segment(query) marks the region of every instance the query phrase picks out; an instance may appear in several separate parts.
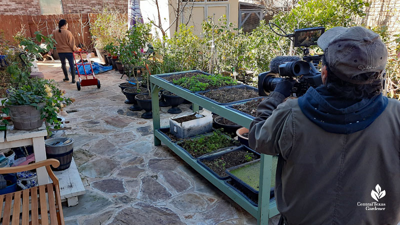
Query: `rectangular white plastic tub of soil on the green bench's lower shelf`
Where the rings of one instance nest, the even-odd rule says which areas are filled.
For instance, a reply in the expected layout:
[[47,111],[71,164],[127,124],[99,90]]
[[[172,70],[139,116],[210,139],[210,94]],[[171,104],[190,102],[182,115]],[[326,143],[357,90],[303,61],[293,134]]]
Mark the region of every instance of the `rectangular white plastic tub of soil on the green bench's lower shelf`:
[[201,113],[197,111],[188,115],[193,114],[197,117],[196,119],[184,121],[181,123],[178,123],[173,119],[187,115],[169,118],[169,132],[177,138],[184,139],[212,131],[212,115],[210,111],[203,109]]

